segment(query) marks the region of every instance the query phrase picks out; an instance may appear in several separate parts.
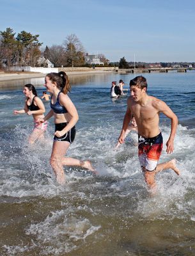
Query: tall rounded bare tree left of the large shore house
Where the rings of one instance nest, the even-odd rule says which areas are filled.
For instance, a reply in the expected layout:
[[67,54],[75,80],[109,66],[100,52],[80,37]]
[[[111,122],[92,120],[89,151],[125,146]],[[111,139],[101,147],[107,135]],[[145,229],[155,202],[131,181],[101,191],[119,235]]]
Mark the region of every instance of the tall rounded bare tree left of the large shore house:
[[67,62],[69,65],[74,67],[75,63],[77,63],[77,65],[83,63],[84,47],[75,34],[66,36],[66,40],[63,42],[63,45],[65,45]]

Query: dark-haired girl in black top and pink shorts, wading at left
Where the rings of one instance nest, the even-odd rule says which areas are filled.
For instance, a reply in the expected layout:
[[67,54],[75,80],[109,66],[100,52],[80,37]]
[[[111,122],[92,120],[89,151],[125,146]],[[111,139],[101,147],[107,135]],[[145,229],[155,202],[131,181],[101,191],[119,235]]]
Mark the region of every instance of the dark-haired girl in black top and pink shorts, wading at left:
[[47,129],[47,122],[43,122],[43,124],[38,124],[38,118],[44,118],[43,113],[45,113],[45,106],[42,100],[37,96],[35,86],[33,84],[26,84],[23,90],[24,95],[26,96],[24,109],[14,110],[13,113],[32,115],[34,119],[34,129],[31,135],[29,136],[29,143],[33,144],[36,140],[43,138],[44,133]]

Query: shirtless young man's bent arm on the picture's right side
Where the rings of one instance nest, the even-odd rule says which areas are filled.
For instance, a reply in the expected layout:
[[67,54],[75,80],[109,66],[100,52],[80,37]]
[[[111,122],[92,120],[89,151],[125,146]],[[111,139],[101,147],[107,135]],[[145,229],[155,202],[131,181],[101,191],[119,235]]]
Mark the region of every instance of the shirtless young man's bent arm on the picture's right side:
[[168,105],[165,102],[160,101],[160,105],[162,105],[160,111],[164,115],[166,115],[168,118],[171,119],[171,133],[170,133],[169,139],[166,143],[166,146],[167,146],[166,152],[168,154],[171,154],[171,153],[173,153],[173,149],[174,149],[173,141],[174,141],[174,138],[175,138],[176,128],[177,128],[177,125],[178,125],[178,118],[175,115],[175,113],[173,113],[173,111],[168,107]]

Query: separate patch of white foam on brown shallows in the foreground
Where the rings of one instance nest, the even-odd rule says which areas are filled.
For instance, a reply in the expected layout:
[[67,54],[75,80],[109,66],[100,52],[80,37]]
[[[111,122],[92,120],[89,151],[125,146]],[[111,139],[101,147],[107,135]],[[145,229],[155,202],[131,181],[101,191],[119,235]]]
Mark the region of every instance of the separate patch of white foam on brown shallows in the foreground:
[[74,214],[76,209],[51,212],[40,223],[31,224],[26,234],[36,236],[36,243],[42,247],[42,254],[61,255],[83,246],[86,237],[97,232],[100,226],[93,226],[87,218]]

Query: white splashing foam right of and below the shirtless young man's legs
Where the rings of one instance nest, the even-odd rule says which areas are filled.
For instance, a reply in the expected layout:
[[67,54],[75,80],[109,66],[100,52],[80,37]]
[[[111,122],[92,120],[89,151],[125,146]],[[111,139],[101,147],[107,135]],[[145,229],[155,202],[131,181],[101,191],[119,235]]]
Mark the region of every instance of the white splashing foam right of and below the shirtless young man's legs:
[[[157,174],[158,191],[152,198],[141,200],[137,212],[143,218],[189,218],[192,213],[192,206],[189,205],[191,197],[187,196],[195,188],[194,164],[195,164],[195,138],[193,131],[179,125],[175,138],[175,151],[169,156],[162,153],[159,163],[169,161],[172,158],[178,159],[176,165],[180,170],[180,176],[173,170],[162,171]],[[186,131],[186,132],[183,132]],[[189,131],[189,132],[188,132]],[[168,140],[169,129],[164,127],[164,142]],[[164,146],[164,150],[166,147]]]

